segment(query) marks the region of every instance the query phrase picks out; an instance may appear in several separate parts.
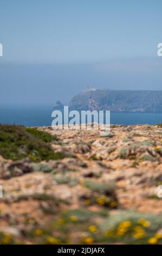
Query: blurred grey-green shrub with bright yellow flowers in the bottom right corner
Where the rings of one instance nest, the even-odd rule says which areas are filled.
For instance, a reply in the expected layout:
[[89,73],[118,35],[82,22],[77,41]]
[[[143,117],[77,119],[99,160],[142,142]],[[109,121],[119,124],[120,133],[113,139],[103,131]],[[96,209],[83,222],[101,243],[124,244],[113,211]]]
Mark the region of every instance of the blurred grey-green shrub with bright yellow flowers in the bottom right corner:
[[161,227],[160,215],[129,210],[118,211],[105,218],[100,225],[109,242],[120,241],[127,244],[161,243],[162,236],[158,233]]

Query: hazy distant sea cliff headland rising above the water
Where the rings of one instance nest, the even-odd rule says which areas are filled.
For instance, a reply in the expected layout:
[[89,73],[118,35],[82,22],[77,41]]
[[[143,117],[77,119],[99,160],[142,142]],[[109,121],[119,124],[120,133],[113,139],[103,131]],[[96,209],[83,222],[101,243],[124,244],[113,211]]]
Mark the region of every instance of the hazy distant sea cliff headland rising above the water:
[[162,112],[162,91],[85,90],[73,97],[69,108],[158,113]]

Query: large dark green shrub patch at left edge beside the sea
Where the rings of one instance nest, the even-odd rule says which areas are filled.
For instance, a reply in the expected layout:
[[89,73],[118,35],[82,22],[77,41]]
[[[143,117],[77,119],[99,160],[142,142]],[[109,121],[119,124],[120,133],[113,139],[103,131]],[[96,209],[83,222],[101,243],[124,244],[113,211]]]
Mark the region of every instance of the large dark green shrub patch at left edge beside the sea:
[[[50,143],[55,137],[46,132],[16,125],[0,125],[0,155],[5,159],[20,160],[29,157],[31,161],[62,159]],[[47,143],[48,142],[48,143]]]

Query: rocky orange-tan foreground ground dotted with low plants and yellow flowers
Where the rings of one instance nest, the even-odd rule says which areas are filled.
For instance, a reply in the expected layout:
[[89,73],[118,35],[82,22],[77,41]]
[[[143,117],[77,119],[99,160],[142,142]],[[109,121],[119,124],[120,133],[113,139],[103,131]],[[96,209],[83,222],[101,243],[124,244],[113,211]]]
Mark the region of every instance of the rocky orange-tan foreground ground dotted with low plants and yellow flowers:
[[0,156],[0,243],[162,243],[161,125],[35,129],[63,157]]

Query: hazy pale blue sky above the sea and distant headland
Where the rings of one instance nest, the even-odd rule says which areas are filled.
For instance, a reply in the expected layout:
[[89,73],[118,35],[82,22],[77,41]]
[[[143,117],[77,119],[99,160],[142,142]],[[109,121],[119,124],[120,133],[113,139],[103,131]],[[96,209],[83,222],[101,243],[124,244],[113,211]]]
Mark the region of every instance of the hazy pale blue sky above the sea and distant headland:
[[161,89],[161,0],[0,0],[0,105]]

